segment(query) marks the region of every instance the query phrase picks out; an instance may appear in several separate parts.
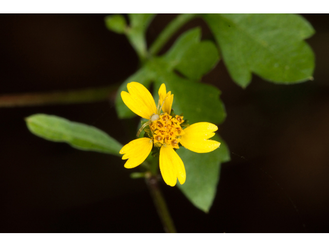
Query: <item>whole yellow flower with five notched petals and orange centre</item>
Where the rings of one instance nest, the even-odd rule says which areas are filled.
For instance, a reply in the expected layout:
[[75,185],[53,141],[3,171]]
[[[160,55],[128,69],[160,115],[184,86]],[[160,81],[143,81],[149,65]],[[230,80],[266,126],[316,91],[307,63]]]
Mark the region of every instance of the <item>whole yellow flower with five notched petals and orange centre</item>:
[[[138,138],[125,145],[120,154],[122,160],[127,160],[124,167],[134,168],[145,161],[153,145],[160,148],[160,171],[163,180],[170,186],[175,186],[177,178],[180,184],[185,183],[186,172],[183,162],[174,148],[179,148],[180,143],[185,148],[197,152],[207,153],[215,150],[220,143],[209,140],[218,128],[209,122],[198,122],[184,130],[180,126],[184,122],[182,116],[170,116],[174,95],[166,91],[166,85],[159,89],[158,107],[146,87],[138,82],[127,84],[128,92],[121,92],[121,97],[126,106],[142,118],[149,121],[142,128],[149,125],[152,138]],[[160,112],[161,113],[160,114]],[[202,165],[202,164],[200,164]]]

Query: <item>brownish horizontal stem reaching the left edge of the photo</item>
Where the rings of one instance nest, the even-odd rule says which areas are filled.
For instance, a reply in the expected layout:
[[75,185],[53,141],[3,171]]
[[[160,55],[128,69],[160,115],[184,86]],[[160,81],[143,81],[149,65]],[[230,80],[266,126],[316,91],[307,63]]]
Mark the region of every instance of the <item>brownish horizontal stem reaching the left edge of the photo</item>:
[[82,90],[43,93],[8,94],[0,96],[1,107],[31,107],[34,105],[72,104],[114,100],[119,85],[94,87]]

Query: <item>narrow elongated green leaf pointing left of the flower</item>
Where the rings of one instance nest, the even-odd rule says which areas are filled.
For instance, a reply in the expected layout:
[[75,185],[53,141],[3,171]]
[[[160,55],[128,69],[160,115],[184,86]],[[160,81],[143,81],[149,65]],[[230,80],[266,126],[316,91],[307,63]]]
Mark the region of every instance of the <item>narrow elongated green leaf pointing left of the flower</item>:
[[83,123],[46,114],[31,115],[25,120],[33,134],[52,142],[65,142],[77,149],[118,156],[122,148],[117,140],[105,132]]

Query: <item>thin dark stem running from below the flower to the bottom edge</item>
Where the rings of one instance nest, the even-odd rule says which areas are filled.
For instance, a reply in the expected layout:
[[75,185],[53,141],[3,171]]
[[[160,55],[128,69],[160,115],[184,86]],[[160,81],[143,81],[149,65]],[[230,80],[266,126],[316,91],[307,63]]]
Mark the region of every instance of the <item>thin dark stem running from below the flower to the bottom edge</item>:
[[166,233],[176,233],[174,222],[170,216],[165,198],[160,190],[157,177],[155,175],[151,175],[150,177],[147,177],[146,181],[163,228],[165,228]]

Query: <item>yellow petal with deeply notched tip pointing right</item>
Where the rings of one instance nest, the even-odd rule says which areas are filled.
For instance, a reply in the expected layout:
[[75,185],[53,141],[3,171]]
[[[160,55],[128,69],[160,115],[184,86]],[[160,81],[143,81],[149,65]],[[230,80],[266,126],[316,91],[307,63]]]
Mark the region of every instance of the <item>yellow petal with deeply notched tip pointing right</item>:
[[184,129],[185,135],[180,137],[180,144],[196,153],[208,153],[218,148],[221,143],[208,140],[218,128],[209,122],[198,122]]

